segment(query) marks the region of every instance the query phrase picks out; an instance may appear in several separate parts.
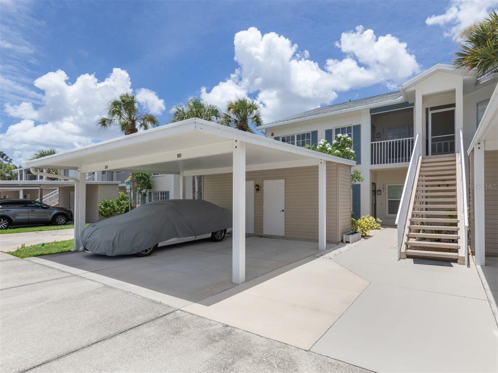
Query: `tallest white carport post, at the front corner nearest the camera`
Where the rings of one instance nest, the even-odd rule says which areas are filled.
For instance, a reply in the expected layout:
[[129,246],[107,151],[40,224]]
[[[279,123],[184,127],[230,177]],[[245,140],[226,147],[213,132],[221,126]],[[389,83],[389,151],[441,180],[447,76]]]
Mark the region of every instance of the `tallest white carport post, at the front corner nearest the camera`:
[[246,144],[235,140],[233,153],[232,281],[246,281]]

